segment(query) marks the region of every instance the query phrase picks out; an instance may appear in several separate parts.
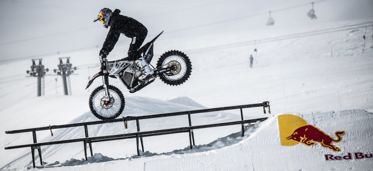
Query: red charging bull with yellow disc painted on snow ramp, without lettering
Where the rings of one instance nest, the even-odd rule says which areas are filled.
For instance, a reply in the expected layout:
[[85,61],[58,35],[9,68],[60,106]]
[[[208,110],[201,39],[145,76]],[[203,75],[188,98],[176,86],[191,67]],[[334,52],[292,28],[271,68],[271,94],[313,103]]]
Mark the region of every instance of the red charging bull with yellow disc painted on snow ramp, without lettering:
[[321,131],[314,125],[307,124],[304,119],[295,115],[279,115],[278,116],[280,142],[282,146],[292,146],[298,143],[312,146],[319,143],[321,146],[340,152],[341,149],[332,143],[338,143],[342,140],[342,135],[345,131],[336,131],[333,139],[328,134]]

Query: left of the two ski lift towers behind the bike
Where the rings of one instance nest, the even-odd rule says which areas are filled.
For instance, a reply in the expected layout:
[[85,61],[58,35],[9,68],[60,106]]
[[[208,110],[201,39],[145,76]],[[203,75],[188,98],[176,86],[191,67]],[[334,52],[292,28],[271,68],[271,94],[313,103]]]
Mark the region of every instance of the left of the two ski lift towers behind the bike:
[[[46,75],[46,72],[49,71],[49,69],[44,69],[44,65],[41,64],[41,60],[43,59],[31,59],[32,65],[30,66],[31,71],[27,70],[27,74],[30,74],[30,77],[37,77],[38,78],[38,92],[37,96],[44,96],[44,87],[45,87],[45,79],[44,76]],[[36,65],[35,60],[39,60],[39,64]],[[41,84],[43,82],[43,85]],[[43,91],[43,92],[42,92]]]

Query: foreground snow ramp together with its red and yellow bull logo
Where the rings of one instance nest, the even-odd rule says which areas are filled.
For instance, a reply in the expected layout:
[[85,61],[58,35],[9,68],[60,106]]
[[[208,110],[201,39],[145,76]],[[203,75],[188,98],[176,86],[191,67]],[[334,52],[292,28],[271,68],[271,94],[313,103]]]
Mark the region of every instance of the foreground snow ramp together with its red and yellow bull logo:
[[[247,139],[220,149],[44,169],[373,170],[372,122],[373,114],[364,110],[278,114],[247,131]],[[292,139],[297,135],[300,142]]]

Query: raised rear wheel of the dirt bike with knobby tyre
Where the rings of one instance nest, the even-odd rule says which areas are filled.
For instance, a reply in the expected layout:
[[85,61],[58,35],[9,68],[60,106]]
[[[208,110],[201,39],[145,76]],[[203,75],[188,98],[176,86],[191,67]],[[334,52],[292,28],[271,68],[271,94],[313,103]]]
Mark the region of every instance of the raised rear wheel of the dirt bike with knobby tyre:
[[158,59],[157,68],[176,66],[176,69],[163,73],[160,79],[170,86],[178,86],[188,80],[192,72],[192,64],[189,57],[178,50],[170,50],[163,53]]

